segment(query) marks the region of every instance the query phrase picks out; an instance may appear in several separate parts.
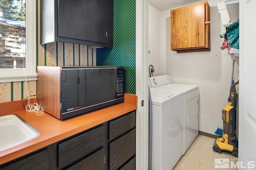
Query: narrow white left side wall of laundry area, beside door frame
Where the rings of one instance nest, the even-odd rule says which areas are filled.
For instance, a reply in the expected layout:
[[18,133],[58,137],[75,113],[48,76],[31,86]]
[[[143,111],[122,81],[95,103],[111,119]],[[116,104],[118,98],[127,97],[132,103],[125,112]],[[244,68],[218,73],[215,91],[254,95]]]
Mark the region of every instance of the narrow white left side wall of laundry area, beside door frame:
[[166,74],[166,57],[160,55],[160,14],[160,11],[148,5],[148,63],[154,66],[153,76]]

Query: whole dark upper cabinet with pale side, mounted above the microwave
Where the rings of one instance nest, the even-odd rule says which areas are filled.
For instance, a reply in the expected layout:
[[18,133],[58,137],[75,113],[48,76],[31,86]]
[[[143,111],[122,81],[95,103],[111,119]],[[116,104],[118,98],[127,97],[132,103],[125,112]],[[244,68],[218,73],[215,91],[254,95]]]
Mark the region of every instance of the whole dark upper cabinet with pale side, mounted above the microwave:
[[41,0],[41,44],[113,47],[114,0]]

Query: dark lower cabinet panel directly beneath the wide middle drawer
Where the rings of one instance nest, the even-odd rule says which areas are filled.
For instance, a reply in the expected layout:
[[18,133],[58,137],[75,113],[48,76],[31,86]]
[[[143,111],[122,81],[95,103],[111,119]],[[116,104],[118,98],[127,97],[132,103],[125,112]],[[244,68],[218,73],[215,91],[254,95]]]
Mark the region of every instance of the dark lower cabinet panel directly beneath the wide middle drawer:
[[101,149],[78,162],[74,166],[68,168],[68,170],[103,170],[105,168],[104,155],[104,149]]

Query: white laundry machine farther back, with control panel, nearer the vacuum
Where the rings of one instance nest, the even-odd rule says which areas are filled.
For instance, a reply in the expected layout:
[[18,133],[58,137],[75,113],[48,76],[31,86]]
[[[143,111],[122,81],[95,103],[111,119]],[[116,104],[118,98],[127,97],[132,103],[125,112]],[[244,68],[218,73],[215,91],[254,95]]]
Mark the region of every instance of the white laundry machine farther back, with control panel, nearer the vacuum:
[[[169,75],[150,77],[150,83],[156,86],[155,89],[177,91],[184,95],[184,150],[183,154],[188,150],[189,146],[198,136],[198,99],[199,90],[197,85],[184,85],[171,83]],[[158,86],[158,84],[164,84]]]

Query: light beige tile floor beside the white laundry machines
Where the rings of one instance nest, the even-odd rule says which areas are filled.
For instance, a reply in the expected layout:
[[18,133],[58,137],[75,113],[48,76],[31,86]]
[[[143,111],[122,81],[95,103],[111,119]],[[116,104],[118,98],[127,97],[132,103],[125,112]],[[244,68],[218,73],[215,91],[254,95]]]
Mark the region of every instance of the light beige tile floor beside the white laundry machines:
[[174,170],[220,170],[214,168],[214,158],[236,158],[231,153],[212,150],[214,141],[214,138],[198,135]]

